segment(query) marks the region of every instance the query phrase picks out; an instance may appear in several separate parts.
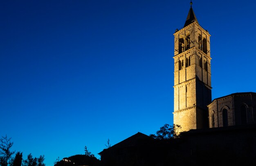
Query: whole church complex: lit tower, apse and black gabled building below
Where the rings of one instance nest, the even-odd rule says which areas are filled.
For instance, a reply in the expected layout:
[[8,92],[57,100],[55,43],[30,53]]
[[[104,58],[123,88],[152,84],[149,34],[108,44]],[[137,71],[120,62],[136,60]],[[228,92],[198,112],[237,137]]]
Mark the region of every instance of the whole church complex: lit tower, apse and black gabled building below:
[[191,2],[173,57],[173,122],[186,132],[168,139],[136,133],[101,151],[102,166],[256,165],[256,93],[211,99],[210,36]]

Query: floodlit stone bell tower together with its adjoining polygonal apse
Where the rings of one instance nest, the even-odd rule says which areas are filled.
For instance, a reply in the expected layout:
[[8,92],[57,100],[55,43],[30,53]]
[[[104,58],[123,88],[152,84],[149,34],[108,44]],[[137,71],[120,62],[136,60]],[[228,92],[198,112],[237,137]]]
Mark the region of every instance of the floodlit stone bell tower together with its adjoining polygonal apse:
[[198,23],[191,2],[184,27],[174,33],[173,123],[182,131],[256,123],[256,93],[211,101],[210,36]]

